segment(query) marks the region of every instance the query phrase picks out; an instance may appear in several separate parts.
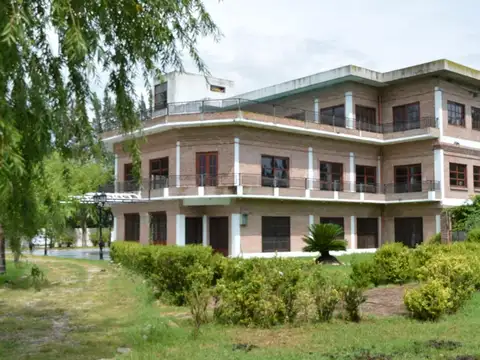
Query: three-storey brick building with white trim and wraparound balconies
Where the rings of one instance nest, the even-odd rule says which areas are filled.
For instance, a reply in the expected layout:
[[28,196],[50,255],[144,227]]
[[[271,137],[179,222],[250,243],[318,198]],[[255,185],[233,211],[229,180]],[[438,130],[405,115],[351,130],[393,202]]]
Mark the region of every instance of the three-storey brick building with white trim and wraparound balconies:
[[112,205],[117,240],[294,256],[309,224],[331,222],[352,250],[414,245],[443,230],[444,207],[480,191],[477,70],[350,65],[236,96],[231,82],[182,76],[158,84],[137,133],[141,185],[125,138],[104,134],[115,191],[137,194]]

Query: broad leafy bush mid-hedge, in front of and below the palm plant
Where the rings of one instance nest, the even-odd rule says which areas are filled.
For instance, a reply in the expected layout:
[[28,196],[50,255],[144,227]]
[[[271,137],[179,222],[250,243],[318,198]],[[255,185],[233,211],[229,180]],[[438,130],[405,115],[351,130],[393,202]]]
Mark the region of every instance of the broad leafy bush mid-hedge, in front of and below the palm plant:
[[229,260],[217,283],[215,318],[221,323],[261,327],[293,321],[305,264],[282,258]]

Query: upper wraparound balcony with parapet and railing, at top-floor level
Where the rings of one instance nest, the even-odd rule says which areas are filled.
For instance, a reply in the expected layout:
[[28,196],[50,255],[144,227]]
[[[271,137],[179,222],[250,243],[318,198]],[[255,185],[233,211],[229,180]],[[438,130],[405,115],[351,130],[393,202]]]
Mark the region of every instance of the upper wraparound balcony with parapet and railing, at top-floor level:
[[[373,141],[395,140],[419,135],[439,136],[436,119],[422,117],[403,122],[383,121],[381,124],[355,120],[348,117],[327,116],[318,112],[259,103],[245,99],[203,100],[170,103],[161,110],[150,110],[139,115],[143,128],[153,125],[205,122],[237,119],[258,126],[286,126],[319,131],[335,136],[361,136]],[[118,135],[115,127],[105,129],[103,138]]]

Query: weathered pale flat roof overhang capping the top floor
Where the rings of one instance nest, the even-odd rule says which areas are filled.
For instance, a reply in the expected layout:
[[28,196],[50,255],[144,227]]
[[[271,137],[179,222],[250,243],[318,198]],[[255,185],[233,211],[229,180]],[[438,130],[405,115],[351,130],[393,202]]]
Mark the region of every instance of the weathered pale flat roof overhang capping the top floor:
[[402,69],[378,72],[356,65],[342,66],[336,69],[323,71],[314,75],[286,81],[280,84],[267,86],[258,90],[235,95],[235,98],[269,101],[306,91],[321,89],[346,81],[364,83],[376,87],[392,85],[423,76],[443,76],[462,83],[467,83],[480,89],[480,71],[441,59],[424,64],[414,65]]

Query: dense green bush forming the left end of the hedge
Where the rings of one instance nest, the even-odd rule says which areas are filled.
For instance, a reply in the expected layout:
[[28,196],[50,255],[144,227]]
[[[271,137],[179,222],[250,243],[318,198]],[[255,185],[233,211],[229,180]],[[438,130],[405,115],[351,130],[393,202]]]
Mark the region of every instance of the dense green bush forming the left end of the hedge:
[[225,259],[213,254],[211,247],[201,245],[155,246],[128,241],[112,244],[112,260],[150,280],[156,295],[174,305],[185,305],[186,294],[191,290],[191,276],[198,266],[212,272],[210,286],[221,277]]

